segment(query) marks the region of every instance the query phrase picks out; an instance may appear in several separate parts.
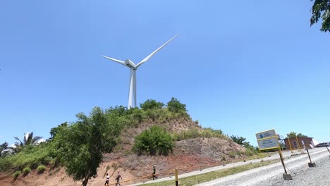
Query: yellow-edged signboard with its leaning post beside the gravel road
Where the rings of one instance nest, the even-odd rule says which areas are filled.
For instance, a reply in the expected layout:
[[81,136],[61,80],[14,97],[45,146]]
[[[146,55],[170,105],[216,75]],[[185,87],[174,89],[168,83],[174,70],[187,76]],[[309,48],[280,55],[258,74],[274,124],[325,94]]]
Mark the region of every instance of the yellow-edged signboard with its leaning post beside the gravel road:
[[277,149],[277,148],[279,149],[279,156],[284,168],[283,178],[284,180],[292,180],[291,175],[286,172],[286,165],[284,164],[283,161],[281,147],[279,146],[279,140],[277,139],[275,130],[267,130],[264,132],[259,132],[255,134],[255,136],[257,137],[259,151],[268,150],[268,149]]

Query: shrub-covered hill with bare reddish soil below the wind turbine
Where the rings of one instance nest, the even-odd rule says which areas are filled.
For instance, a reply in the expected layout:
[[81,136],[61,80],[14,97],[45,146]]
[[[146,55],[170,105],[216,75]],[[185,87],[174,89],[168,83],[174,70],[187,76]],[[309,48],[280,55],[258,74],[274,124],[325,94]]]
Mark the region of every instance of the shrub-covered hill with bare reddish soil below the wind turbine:
[[[86,178],[82,172],[90,166],[96,168],[94,175],[98,175],[90,184],[99,185],[105,173],[112,175],[115,171],[121,171],[127,180],[149,175],[154,164],[158,172],[180,168],[183,173],[255,155],[255,151],[236,144],[221,130],[202,128],[190,118],[185,104],[173,98],[166,106],[147,100],[135,109],[96,107],[90,116],[78,113],[77,118],[73,123],[52,128],[47,142],[23,146],[16,153],[1,157],[0,185],[4,185],[1,180],[8,179],[37,185],[35,177],[44,178],[43,182],[47,180],[49,184],[72,185],[73,180]],[[159,133],[152,133],[152,128],[159,128],[154,130]],[[102,163],[97,163],[98,150],[102,152]],[[37,171],[39,166],[47,168],[41,173]],[[23,173],[26,168],[31,171]],[[79,168],[84,169],[79,172],[83,176],[75,173]],[[12,177],[14,173],[16,178]],[[92,174],[87,180],[90,177]]]

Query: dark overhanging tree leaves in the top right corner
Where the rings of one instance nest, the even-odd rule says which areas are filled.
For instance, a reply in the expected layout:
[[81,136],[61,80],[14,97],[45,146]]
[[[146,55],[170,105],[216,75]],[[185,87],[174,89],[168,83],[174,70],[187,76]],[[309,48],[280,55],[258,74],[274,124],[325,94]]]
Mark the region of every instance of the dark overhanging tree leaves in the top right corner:
[[322,26],[320,30],[322,32],[330,32],[330,0],[314,0],[310,25],[312,26],[317,23],[319,18],[322,18]]

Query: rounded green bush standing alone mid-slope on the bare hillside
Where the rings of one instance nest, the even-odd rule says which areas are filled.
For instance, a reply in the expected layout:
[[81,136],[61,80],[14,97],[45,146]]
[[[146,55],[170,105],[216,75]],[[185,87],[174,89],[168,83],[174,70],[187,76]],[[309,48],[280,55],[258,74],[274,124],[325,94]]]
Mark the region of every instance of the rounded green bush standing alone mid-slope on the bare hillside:
[[173,152],[173,147],[171,135],[164,128],[154,125],[135,137],[133,151],[138,154],[168,155]]

